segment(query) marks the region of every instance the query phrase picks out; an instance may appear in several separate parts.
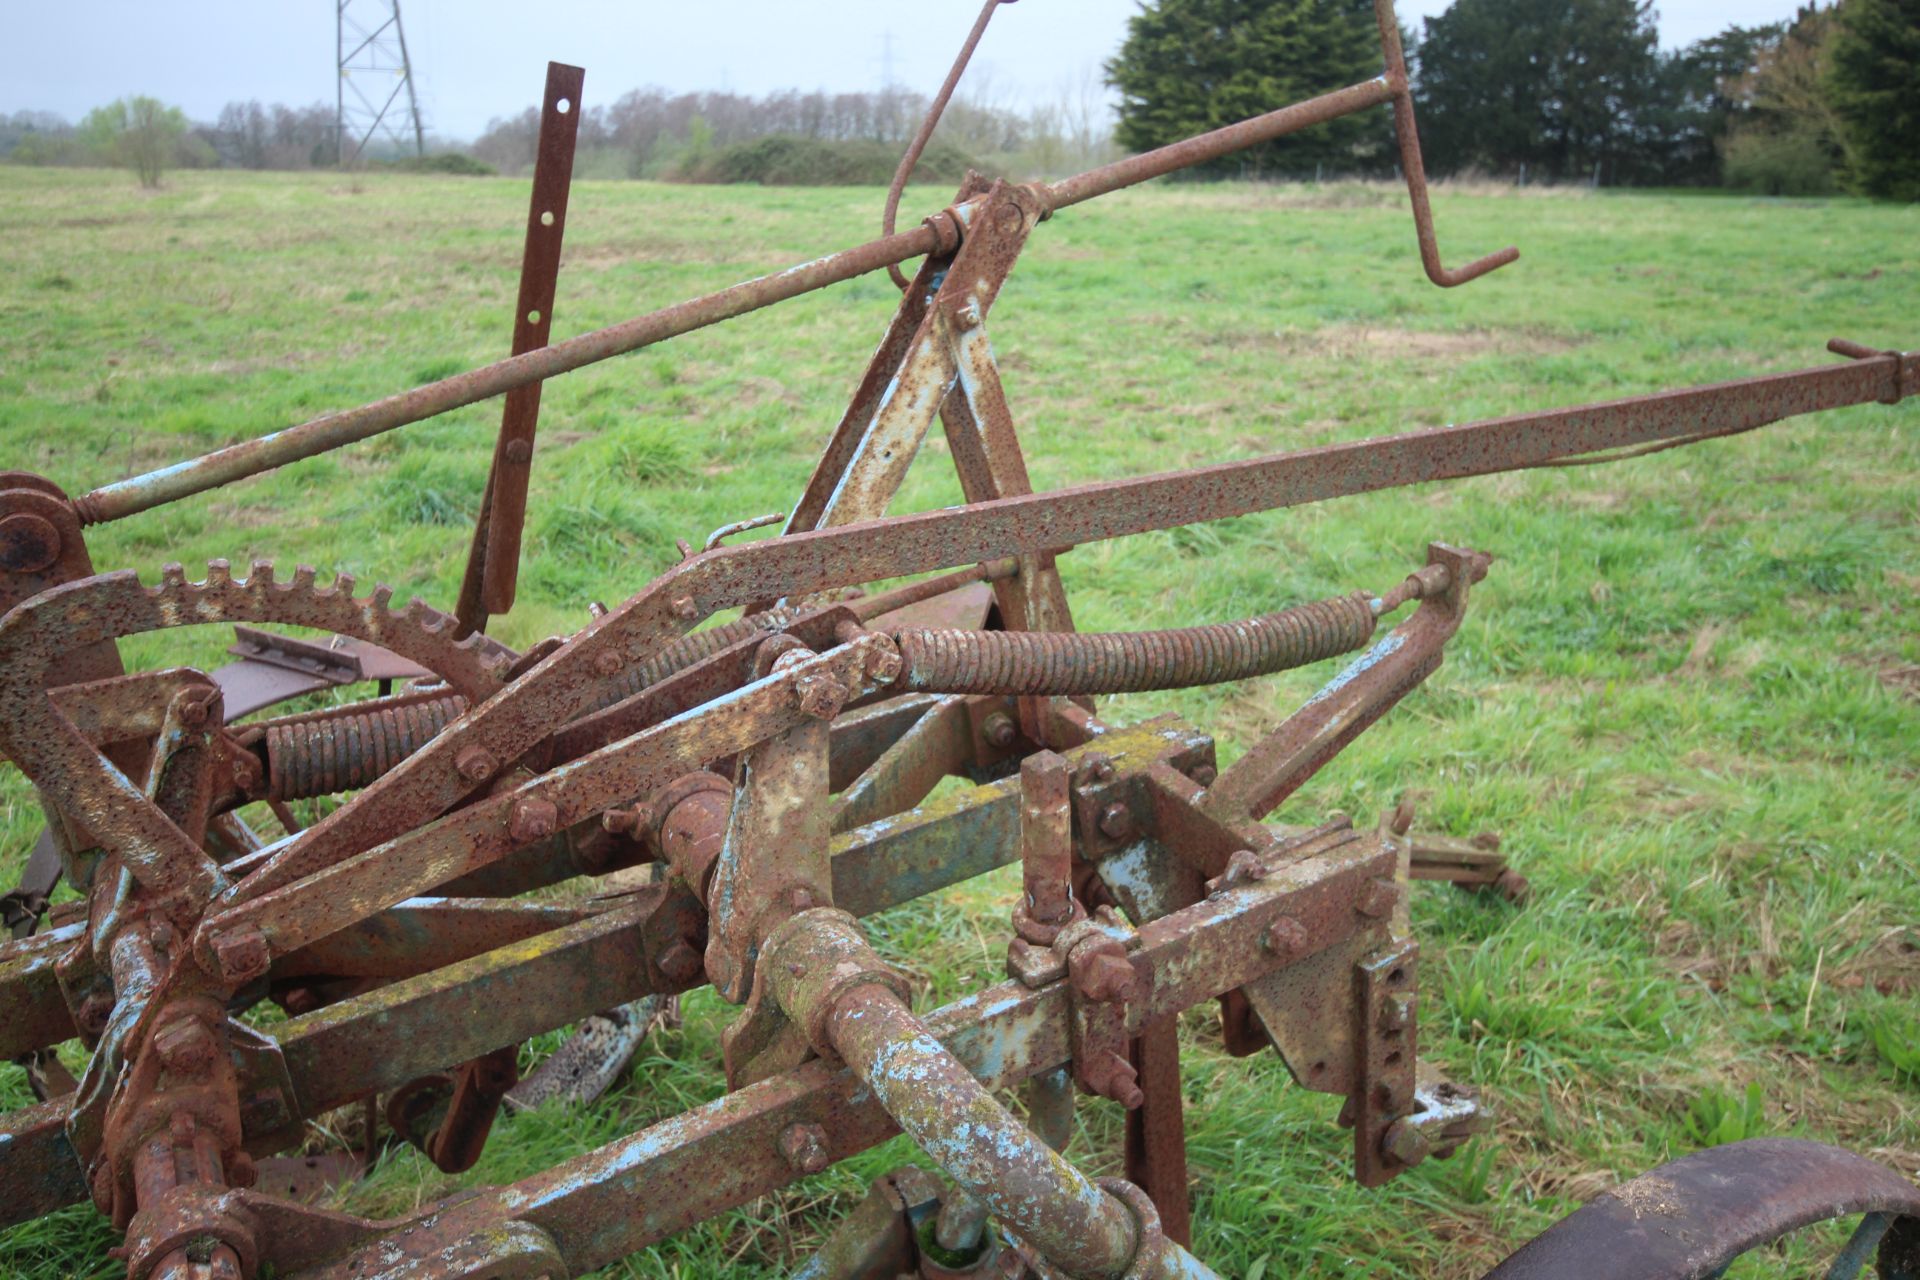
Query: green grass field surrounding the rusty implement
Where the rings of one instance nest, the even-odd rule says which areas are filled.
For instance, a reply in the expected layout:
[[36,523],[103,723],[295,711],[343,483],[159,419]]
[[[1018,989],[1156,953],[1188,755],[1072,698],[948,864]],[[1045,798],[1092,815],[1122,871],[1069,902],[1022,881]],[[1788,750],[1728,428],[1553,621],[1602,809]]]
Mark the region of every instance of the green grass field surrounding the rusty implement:
[[[906,207],[937,207],[916,192]],[[993,315],[1037,487],[1250,457],[1920,345],[1920,207],[1442,192],[1428,286],[1384,188],[1162,186],[1071,209]],[[505,351],[526,188],[511,180],[0,169],[0,466],[71,491],[442,378]],[[866,238],[868,190],[574,190],[557,336]],[[804,482],[897,294],[883,276],[545,390],[511,643],[578,628]],[[90,533],[102,568],[303,560],[451,606],[497,405]],[[931,443],[897,510],[956,501]],[[1350,499],[1083,547],[1081,628],[1173,626],[1396,581],[1428,539],[1492,551],[1450,660],[1277,816],[1500,831],[1536,896],[1427,887],[1423,1052],[1498,1130],[1380,1192],[1338,1100],[1231,1061],[1187,1021],[1196,1253],[1233,1276],[1478,1276],[1615,1180],[1751,1134],[1920,1173],[1920,411],[1860,407],[1603,468]],[[182,643],[186,645],[182,649]],[[127,645],[211,662],[223,635]],[[1327,672],[1108,702],[1179,710],[1223,758]],[[8,773],[0,873],[38,825]],[[922,1004],[989,979],[1010,881],[876,936]],[[503,1182],[720,1088],[728,1009],[695,998],[589,1111],[515,1117],[445,1178],[392,1153],[342,1207]],[[0,1102],[27,1098],[0,1065]],[[1117,1113],[1071,1155],[1108,1173]],[[893,1144],[620,1276],[772,1276]],[[92,1209],[0,1234],[0,1274],[111,1276]],[[1734,1274],[1805,1274],[1809,1253]]]

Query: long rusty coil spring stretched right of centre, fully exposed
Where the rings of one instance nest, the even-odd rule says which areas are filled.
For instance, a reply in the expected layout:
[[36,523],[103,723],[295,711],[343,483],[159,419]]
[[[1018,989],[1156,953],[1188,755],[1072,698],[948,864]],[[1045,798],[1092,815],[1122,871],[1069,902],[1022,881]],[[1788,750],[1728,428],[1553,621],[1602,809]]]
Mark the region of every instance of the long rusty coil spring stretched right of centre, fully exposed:
[[1217,685],[1352,652],[1373,637],[1373,597],[1342,595],[1246,622],[1169,631],[958,631],[895,635],[906,687],[1071,697]]

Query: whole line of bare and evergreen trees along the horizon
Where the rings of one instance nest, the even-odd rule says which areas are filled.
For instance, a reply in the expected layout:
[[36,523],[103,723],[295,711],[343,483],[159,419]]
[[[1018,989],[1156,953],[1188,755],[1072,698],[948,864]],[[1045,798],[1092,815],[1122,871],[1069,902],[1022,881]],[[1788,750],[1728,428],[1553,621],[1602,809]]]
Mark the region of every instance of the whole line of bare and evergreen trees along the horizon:
[[[1428,173],[1538,182],[1851,188],[1920,200],[1920,0],[1807,4],[1659,48],[1651,0],[1455,0],[1404,33]],[[1379,75],[1371,0],[1146,0],[1121,50],[1052,102],[1016,109],[991,84],[956,98],[920,165],[1058,177]],[[1108,98],[1117,92],[1117,115]],[[885,182],[924,94],[639,88],[580,119],[574,171],[695,182]],[[522,173],[540,111],[495,119],[424,167]],[[232,102],[192,123],[123,98],[79,125],[0,117],[0,159],[309,169],[338,163],[324,104]],[[411,157],[372,163],[420,167]],[[1344,117],[1217,163],[1213,177],[1394,173],[1386,111]]]

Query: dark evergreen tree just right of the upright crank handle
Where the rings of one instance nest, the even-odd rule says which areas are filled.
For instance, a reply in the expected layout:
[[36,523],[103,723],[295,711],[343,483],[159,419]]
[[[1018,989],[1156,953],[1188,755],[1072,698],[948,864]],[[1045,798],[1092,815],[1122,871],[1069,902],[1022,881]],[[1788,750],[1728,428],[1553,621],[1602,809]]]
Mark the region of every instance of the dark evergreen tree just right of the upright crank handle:
[[1609,182],[1657,178],[1674,77],[1649,0],[1457,0],[1419,46],[1421,142],[1467,167]]

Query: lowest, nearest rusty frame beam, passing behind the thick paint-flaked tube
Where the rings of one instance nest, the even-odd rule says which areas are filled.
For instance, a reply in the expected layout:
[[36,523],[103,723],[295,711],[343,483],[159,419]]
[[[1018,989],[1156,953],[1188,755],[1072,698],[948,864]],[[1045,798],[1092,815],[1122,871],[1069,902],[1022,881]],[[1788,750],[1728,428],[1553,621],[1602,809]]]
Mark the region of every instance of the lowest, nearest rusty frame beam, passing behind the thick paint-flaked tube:
[[[1390,862],[1379,842],[1348,844],[1142,925],[1140,948],[1131,954],[1146,994],[1127,1004],[1125,1031],[1140,1034],[1154,1021],[1273,969],[1260,935],[1281,913],[1302,919],[1315,944],[1331,946],[1357,931],[1382,933],[1354,904]],[[1068,983],[1039,990],[1000,983],[931,1013],[925,1023],[981,1086],[1002,1090],[1068,1061],[1069,1013]],[[497,1232],[509,1221],[547,1232],[568,1268],[582,1274],[793,1182],[801,1174],[780,1153],[780,1134],[791,1125],[818,1125],[831,1159],[897,1132],[851,1071],[810,1061],[524,1182],[482,1192],[430,1222],[394,1226],[324,1267],[292,1276],[397,1280],[417,1274],[411,1267],[420,1261]]]

